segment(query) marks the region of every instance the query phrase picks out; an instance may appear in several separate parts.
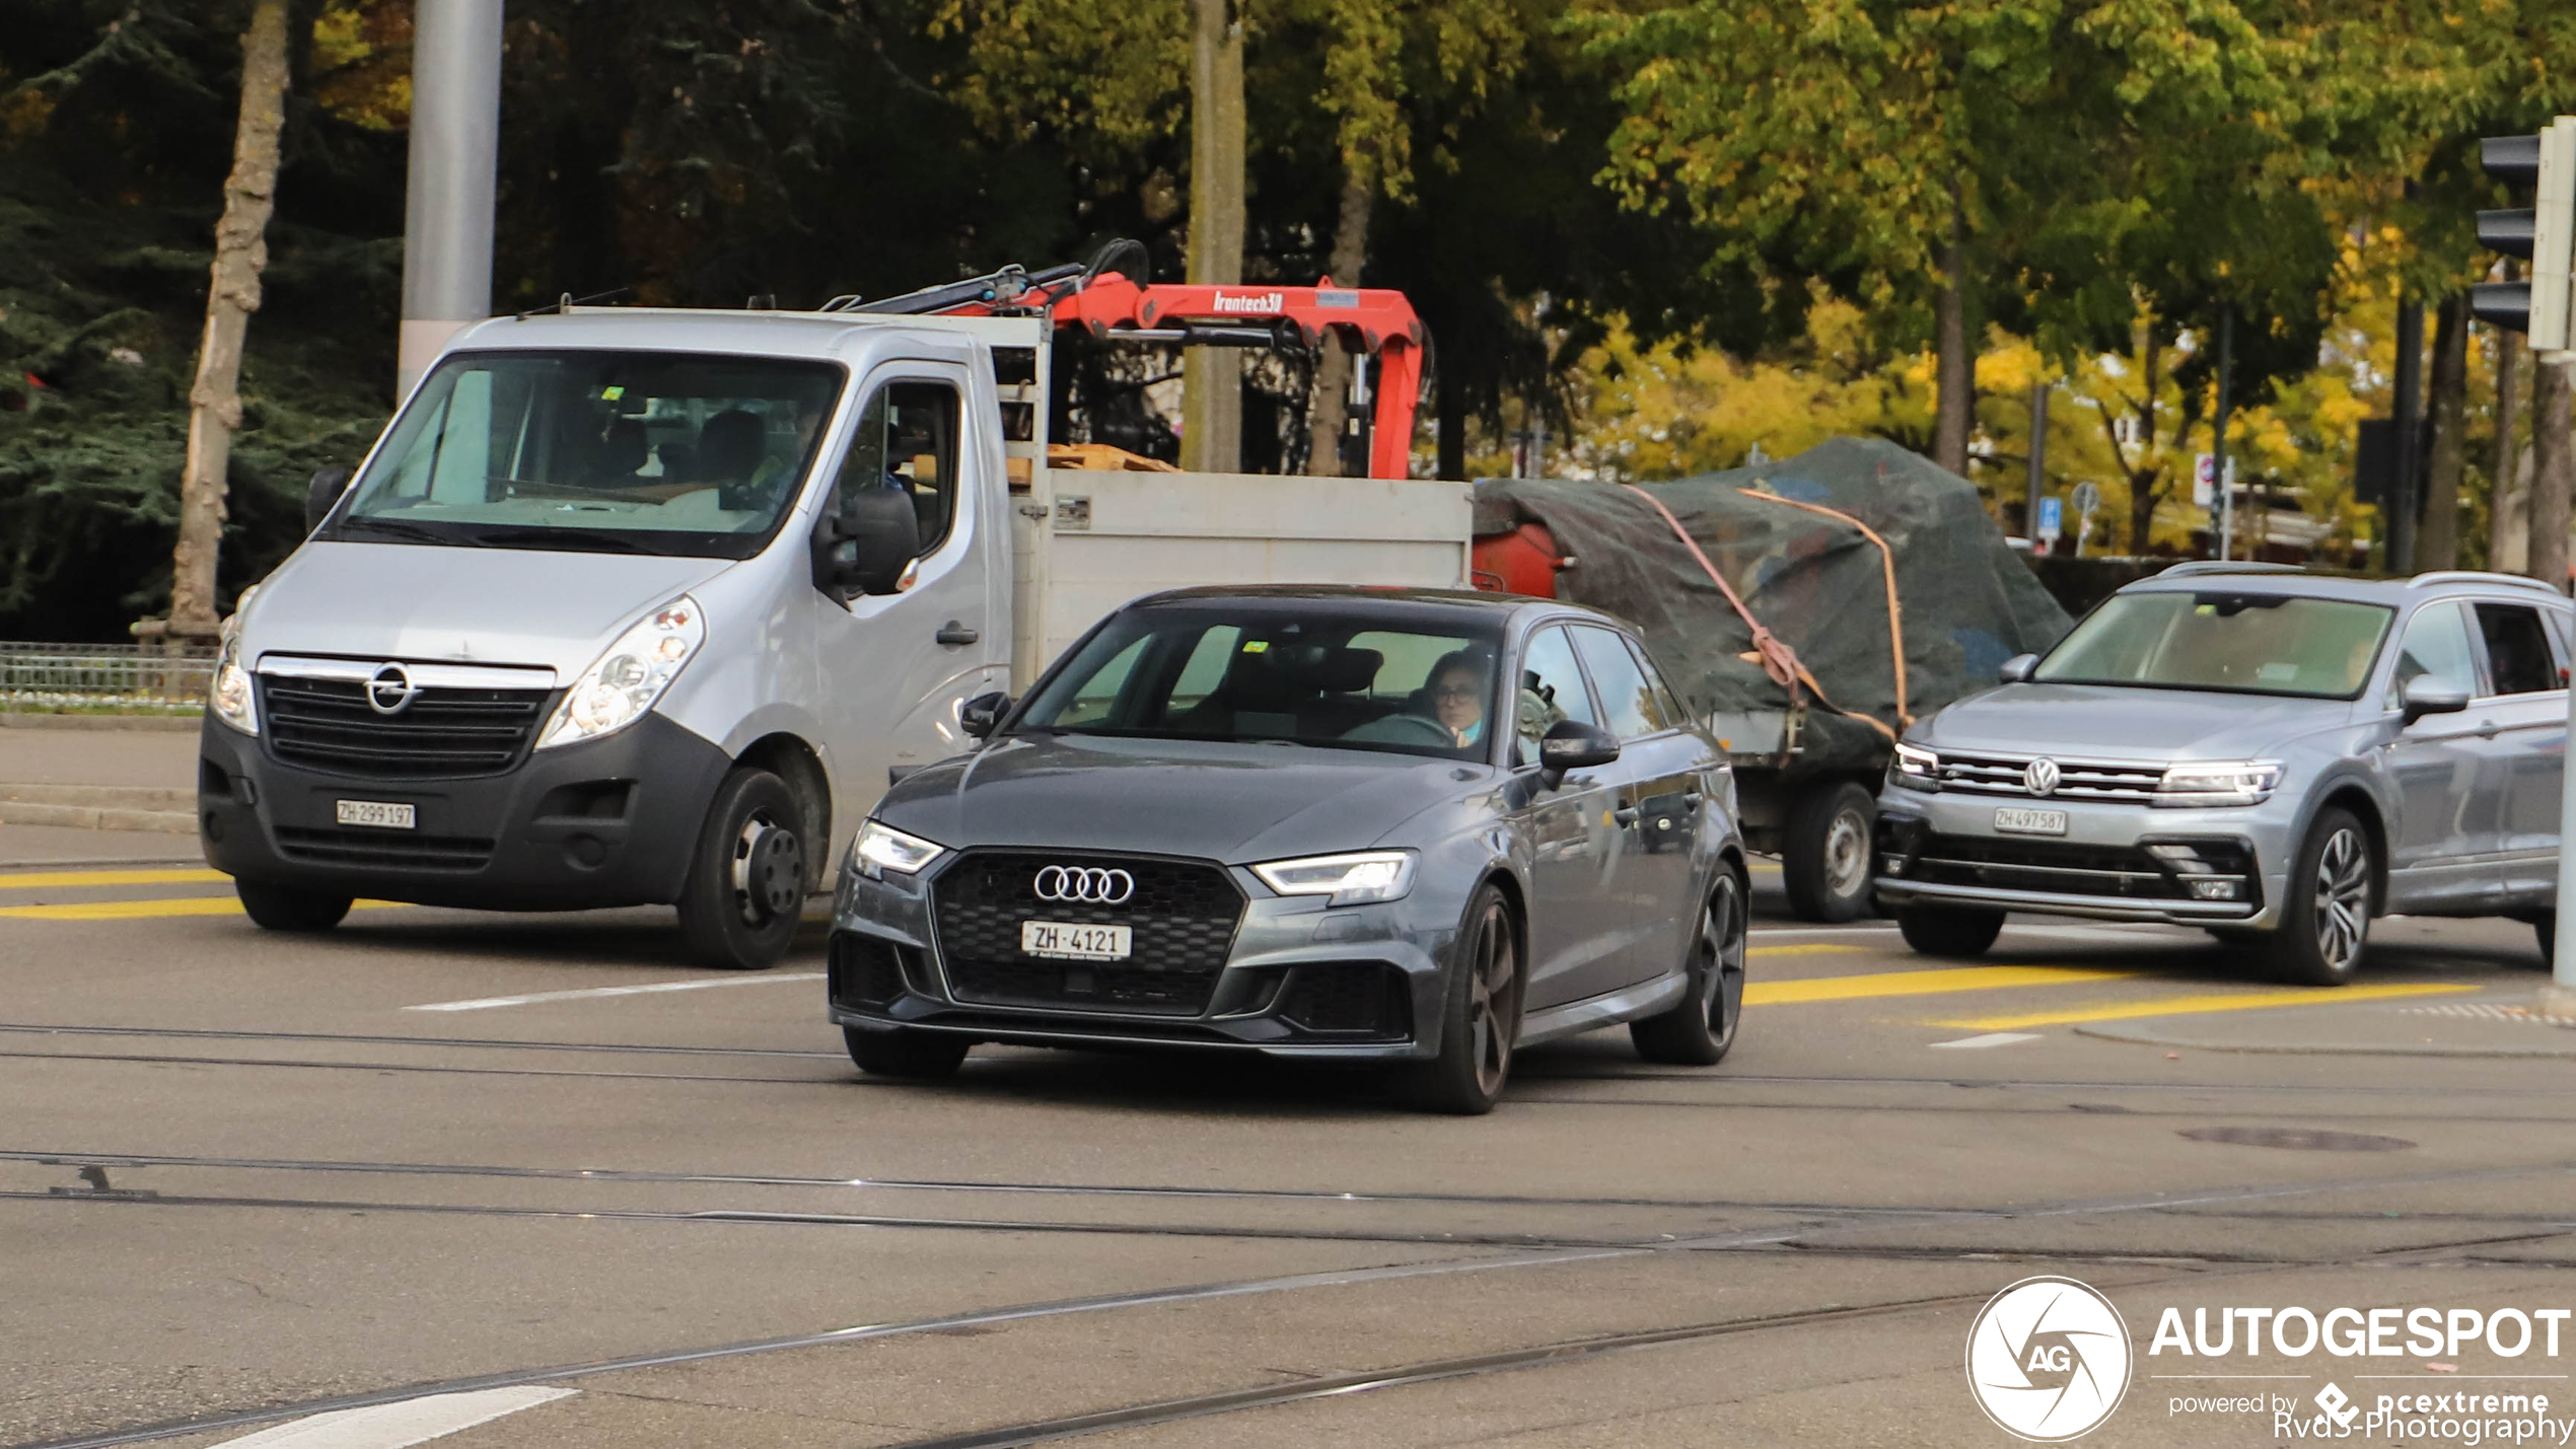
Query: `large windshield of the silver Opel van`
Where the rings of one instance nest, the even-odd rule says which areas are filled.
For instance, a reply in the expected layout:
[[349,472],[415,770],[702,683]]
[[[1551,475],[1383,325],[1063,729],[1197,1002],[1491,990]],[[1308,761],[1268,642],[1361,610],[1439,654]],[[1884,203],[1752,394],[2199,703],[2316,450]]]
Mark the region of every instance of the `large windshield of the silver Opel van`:
[[750,558],[814,466],[842,368],[688,353],[461,353],[325,538]]

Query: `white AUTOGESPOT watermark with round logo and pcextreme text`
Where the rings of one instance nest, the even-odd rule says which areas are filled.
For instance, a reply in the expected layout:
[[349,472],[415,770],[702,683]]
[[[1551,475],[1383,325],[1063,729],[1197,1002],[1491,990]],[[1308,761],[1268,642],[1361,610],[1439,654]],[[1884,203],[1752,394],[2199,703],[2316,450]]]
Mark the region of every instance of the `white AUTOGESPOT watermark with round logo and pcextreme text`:
[[[2076,1279],[2035,1277],[1994,1295],[1968,1328],[1968,1390],[1986,1418],[2035,1444],[2099,1428],[2136,1374],[2169,1390],[2159,1392],[2166,1418],[2251,1418],[2244,1428],[2259,1426],[2272,1441],[2566,1446],[2576,1444],[2576,1390],[2555,1369],[2571,1318],[2576,1310],[2566,1307],[2293,1305],[2195,1307],[2184,1325],[2184,1310],[2166,1307],[2138,1367],[2110,1297]],[[2566,1338],[2576,1351],[2576,1333]],[[2434,1361],[2463,1351],[2532,1372],[2450,1377],[2460,1364]],[[2251,1359],[2249,1372],[2226,1372],[2231,1356]],[[2347,1359],[2336,1372],[2362,1385],[2360,1392],[2326,1372],[2269,1372],[2316,1356]],[[2318,1380],[2324,1387],[2311,1390]]]

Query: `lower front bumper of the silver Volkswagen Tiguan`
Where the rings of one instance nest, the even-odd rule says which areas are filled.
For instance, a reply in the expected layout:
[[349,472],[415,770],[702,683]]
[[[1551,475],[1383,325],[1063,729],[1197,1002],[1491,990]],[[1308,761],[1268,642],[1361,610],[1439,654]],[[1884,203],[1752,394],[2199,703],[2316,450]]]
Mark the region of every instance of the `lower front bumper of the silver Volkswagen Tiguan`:
[[[2066,834],[1994,829],[1996,808],[2014,806],[2063,811]],[[1878,800],[1878,901],[2269,929],[2285,836],[2259,806],[2172,811],[1891,788]]]

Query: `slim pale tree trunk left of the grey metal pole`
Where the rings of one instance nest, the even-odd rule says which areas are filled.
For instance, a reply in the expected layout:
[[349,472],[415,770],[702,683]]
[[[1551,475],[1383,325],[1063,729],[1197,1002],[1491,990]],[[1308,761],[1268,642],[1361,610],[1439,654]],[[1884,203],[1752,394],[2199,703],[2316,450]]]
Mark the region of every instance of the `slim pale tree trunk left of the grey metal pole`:
[[242,118],[232,136],[224,219],[214,224],[206,337],[188,389],[188,463],[178,484],[170,556],[170,633],[211,638],[214,558],[224,540],[224,468],[242,425],[242,337],[260,309],[268,214],[278,198],[278,129],[286,124],[286,0],[255,0],[242,36]]

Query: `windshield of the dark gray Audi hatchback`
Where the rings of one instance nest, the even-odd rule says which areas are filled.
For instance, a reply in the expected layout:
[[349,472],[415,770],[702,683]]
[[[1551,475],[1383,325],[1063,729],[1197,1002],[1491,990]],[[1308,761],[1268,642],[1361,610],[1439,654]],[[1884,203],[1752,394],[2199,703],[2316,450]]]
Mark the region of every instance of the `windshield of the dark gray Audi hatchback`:
[[1499,646],[1499,633],[1368,613],[1128,610],[1038,687],[1012,731],[1484,759]]

